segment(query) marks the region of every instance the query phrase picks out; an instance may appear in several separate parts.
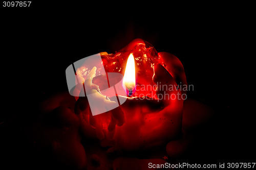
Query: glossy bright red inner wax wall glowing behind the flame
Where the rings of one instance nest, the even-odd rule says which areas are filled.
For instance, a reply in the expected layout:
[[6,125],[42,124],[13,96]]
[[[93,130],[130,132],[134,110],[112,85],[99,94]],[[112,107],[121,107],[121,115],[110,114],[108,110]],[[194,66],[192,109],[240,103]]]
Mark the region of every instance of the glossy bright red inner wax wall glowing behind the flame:
[[136,77],[136,90],[133,91],[132,96],[147,95],[156,98],[156,93],[153,89],[155,83],[152,79],[154,65],[158,63],[158,55],[152,44],[142,39],[135,39],[116,52],[116,54],[100,53],[105,71],[119,72],[122,75],[125,74],[126,62],[131,54],[134,57]]

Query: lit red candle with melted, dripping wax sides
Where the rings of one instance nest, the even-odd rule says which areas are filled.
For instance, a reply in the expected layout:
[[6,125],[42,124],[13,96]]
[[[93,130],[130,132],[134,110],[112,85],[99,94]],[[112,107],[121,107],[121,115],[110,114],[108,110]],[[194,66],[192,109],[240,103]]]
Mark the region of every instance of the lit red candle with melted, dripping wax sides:
[[[142,39],[133,40],[116,54],[103,52],[100,56],[105,72],[119,72],[124,76],[121,90],[125,90],[127,95],[117,99],[128,100],[118,108],[93,116],[86,104],[87,99],[77,98],[77,105],[87,105],[86,109],[78,111],[83,134],[102,140],[103,146],[126,151],[150,148],[176,138],[181,132],[184,102],[178,96],[186,93],[177,88],[178,83],[186,85],[179,59],[169,53],[157,53],[150,43]],[[101,92],[108,88],[101,83],[106,77],[102,68],[96,65],[79,67],[77,80],[83,82],[88,75],[94,75],[88,85],[91,89],[99,89],[96,90],[98,95],[106,95],[107,99],[108,93]],[[90,71],[94,71],[93,74]],[[81,90],[83,88],[78,84],[74,91],[77,94]],[[114,98],[116,96],[109,96],[107,100]],[[98,107],[108,106],[108,101],[102,103],[99,100],[102,105]]]

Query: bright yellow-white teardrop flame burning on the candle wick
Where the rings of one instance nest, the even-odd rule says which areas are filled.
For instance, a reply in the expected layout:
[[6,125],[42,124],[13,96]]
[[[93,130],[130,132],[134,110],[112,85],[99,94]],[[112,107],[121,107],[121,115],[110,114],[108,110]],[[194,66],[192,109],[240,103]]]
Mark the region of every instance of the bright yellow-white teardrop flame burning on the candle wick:
[[124,71],[124,77],[123,77],[123,87],[126,89],[126,93],[128,95],[132,95],[135,91],[135,61],[134,56],[131,53],[128,57],[125,71]]

